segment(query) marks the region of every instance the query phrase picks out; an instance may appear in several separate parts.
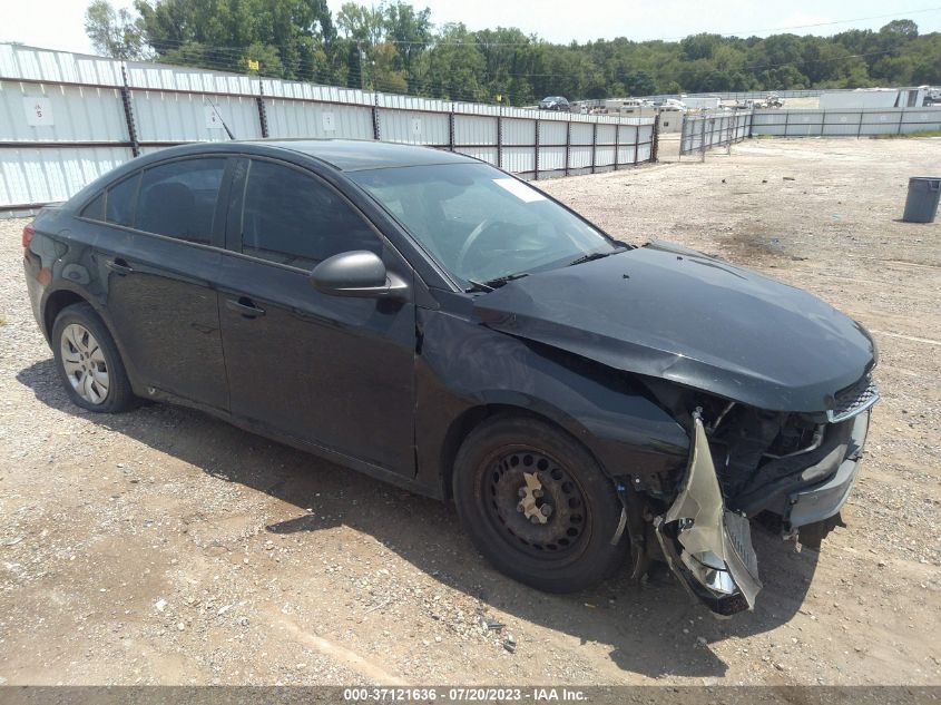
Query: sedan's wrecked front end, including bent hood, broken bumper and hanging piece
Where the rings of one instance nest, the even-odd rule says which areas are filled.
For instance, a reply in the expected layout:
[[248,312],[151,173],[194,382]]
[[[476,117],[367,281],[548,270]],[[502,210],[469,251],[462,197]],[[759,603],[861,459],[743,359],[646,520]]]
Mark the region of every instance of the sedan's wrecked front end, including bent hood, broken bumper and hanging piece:
[[[819,532],[850,493],[879,399],[878,351],[861,323],[807,292],[653,242],[517,278],[474,312],[491,330],[625,374],[685,431],[685,458],[674,445],[668,463],[609,462],[635,578],[663,558],[715,614],[749,609],[761,589],[752,519],[788,537]],[[592,428],[657,449],[648,422],[602,414]]]

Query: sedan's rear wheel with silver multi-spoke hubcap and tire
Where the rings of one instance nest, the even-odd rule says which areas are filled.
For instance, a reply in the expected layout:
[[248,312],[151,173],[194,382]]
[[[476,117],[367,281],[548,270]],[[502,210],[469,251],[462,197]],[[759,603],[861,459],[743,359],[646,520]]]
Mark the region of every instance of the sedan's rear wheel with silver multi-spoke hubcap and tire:
[[51,342],[59,379],[73,404],[96,413],[117,413],[135,405],[118,347],[89,304],[62,309],[52,324]]

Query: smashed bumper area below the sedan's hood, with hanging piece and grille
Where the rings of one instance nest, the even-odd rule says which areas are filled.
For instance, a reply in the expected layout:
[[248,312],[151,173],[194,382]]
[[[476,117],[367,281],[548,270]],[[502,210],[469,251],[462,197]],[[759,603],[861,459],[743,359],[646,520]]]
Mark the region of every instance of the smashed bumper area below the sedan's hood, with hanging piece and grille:
[[654,517],[654,530],[689,593],[728,617],[752,609],[762,588],[749,520],[767,512],[785,536],[796,536],[837,515],[855,481],[879,393],[866,374],[821,413],[684,396],[706,409],[685,414],[689,461],[675,497]]

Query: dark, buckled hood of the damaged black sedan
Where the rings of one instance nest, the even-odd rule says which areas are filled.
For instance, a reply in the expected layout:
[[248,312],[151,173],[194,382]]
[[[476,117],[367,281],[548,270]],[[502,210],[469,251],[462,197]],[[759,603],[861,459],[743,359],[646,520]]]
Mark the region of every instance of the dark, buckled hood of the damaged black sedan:
[[488,326],[774,411],[819,412],[872,366],[864,329],[815,296],[655,242],[478,297]]

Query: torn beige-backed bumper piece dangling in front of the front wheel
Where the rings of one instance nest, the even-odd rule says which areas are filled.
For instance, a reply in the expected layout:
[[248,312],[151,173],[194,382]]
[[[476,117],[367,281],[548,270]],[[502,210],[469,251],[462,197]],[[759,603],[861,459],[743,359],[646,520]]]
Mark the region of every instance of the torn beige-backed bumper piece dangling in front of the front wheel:
[[729,511],[713,466],[703,420],[694,414],[694,442],[683,488],[654,520],[667,564],[713,613],[752,609],[762,589],[748,519]]

